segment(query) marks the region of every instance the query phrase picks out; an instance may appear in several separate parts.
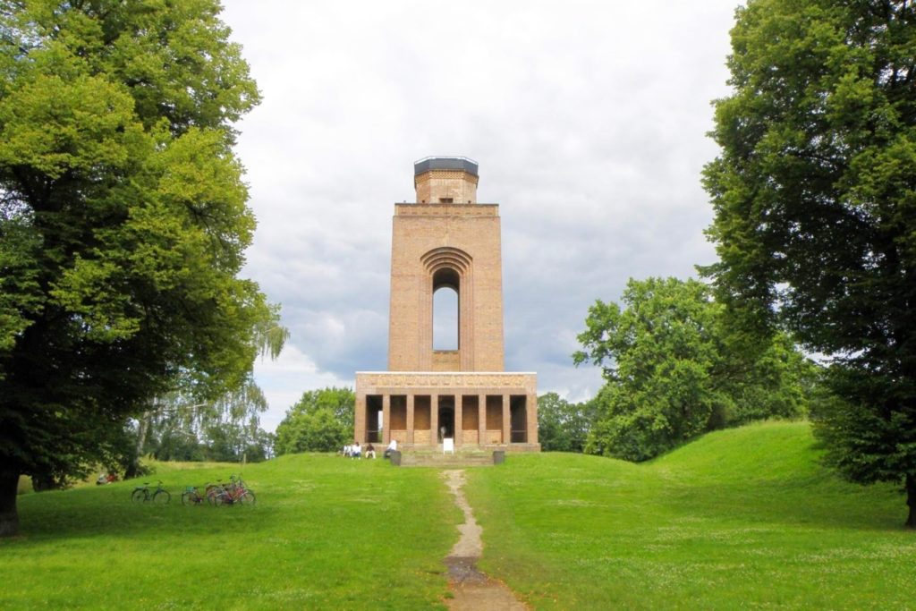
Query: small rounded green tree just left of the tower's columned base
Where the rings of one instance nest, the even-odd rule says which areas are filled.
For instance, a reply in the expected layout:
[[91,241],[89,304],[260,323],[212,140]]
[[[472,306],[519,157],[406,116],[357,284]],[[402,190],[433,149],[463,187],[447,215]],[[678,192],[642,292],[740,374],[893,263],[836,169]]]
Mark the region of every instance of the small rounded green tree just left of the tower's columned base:
[[277,427],[278,455],[339,450],[353,440],[354,404],[350,388],[304,392]]

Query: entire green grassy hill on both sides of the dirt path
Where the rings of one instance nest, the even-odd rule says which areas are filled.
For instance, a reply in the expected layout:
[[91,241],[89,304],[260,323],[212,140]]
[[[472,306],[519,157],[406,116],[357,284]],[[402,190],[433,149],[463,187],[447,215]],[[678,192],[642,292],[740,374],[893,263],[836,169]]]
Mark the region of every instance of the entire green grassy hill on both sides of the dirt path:
[[[916,533],[890,486],[840,482],[807,425],[720,431],[649,464],[511,455],[469,473],[484,569],[535,608],[916,606]],[[230,465],[20,496],[0,608],[427,609],[460,519],[435,471],[301,454],[245,467],[257,506],[181,507]]]

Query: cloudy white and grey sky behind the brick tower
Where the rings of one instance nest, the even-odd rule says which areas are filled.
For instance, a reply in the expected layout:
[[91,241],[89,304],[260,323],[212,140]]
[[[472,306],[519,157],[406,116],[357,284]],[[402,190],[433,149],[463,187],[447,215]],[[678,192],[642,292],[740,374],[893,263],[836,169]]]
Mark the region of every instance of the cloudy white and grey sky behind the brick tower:
[[245,276],[292,333],[256,366],[263,426],[386,368],[393,204],[430,155],[473,158],[500,204],[507,370],[592,397],[571,358],[589,305],[714,260],[700,172],[737,4],[224,0],[264,98],[238,125]]

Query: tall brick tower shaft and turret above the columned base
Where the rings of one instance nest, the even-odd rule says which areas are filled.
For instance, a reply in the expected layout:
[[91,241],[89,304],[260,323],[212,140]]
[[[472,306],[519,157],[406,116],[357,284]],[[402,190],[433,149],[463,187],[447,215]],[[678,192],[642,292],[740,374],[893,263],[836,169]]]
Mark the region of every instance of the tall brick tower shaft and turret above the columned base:
[[[477,164],[414,166],[417,203],[396,204],[391,239],[390,371],[502,371],[499,206],[477,203]],[[432,347],[432,295],[458,293],[458,349]]]

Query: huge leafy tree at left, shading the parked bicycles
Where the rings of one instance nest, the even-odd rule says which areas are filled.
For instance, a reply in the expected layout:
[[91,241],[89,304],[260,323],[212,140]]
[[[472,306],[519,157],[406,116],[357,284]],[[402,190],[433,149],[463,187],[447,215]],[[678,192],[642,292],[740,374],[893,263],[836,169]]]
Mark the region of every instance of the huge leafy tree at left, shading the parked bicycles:
[[20,474],[125,453],[175,387],[237,387],[271,318],[232,123],[257,103],[217,0],[0,9],[0,535]]

